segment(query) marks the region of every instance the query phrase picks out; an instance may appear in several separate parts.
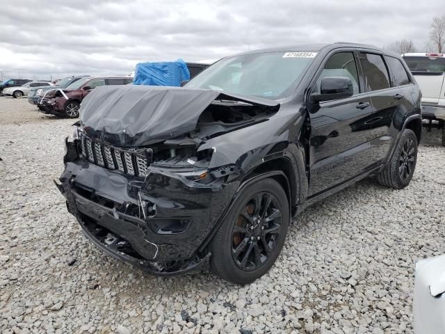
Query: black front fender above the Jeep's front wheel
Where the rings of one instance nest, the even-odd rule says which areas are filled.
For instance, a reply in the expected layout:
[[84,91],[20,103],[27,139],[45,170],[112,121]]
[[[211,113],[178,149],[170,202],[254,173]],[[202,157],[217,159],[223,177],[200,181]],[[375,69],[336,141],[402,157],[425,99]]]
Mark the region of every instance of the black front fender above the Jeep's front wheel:
[[305,174],[305,152],[300,143],[300,135],[305,122],[301,105],[282,105],[280,111],[264,122],[238,129],[234,132],[212,138],[199,150],[213,148],[209,168],[235,164],[238,166],[239,180],[245,180],[262,164],[275,161],[274,170],[282,170],[283,159],[289,161],[289,177],[292,204],[297,204],[307,196]]

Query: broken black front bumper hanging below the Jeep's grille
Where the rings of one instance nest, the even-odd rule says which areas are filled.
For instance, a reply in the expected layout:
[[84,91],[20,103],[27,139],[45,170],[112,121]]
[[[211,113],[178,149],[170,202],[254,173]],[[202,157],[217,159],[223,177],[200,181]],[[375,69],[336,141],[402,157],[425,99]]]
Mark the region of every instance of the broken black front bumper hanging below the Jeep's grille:
[[208,267],[210,253],[203,245],[218,228],[238,182],[195,184],[163,170],[152,170],[144,180],[67,160],[56,185],[99,249],[161,276]]

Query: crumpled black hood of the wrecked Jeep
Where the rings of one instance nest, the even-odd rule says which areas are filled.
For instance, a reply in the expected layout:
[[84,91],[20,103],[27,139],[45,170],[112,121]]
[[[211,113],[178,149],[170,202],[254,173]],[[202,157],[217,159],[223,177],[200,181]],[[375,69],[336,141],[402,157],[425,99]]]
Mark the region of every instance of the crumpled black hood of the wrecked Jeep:
[[216,90],[163,86],[102,86],[83,100],[80,123],[88,136],[122,147],[143,146],[193,131],[213,100],[264,106],[278,102]]

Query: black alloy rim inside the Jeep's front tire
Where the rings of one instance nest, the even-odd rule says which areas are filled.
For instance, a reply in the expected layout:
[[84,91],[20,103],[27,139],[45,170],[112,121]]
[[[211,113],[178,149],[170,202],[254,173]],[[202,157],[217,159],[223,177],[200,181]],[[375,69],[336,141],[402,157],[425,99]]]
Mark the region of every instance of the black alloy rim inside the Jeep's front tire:
[[271,193],[257,193],[239,212],[232,230],[232,257],[239,269],[259,269],[277,247],[281,209]]

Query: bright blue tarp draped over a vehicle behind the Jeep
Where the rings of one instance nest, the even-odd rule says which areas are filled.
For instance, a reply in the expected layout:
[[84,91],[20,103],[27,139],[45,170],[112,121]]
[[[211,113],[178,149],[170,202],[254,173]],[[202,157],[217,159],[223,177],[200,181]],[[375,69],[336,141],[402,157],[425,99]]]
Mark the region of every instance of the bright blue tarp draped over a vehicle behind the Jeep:
[[138,63],[134,73],[133,85],[177,86],[190,79],[187,64],[182,60],[160,61],[157,63]]

